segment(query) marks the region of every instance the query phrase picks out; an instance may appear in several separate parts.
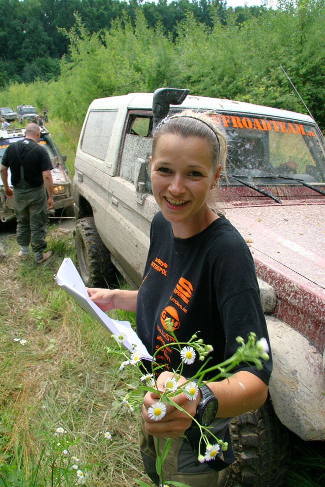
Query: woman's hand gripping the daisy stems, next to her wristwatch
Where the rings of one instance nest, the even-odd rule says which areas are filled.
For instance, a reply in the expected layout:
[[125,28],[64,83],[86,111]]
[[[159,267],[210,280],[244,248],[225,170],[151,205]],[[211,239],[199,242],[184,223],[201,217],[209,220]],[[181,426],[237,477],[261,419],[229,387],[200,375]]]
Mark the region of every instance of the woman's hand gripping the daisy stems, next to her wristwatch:
[[[162,393],[164,388],[164,383],[168,377],[172,377],[171,372],[162,372],[157,379],[158,391]],[[179,376],[177,384],[181,385],[187,382],[182,376]],[[191,417],[195,416],[196,405],[199,403],[201,398],[201,393],[198,391],[197,397],[194,400],[188,400],[184,393],[180,393],[172,398],[178,406],[181,406]],[[144,419],[144,427],[149,435],[159,437],[159,438],[178,438],[184,434],[187,428],[190,427],[192,418],[186,413],[179,411],[174,406],[166,404],[166,414],[159,420],[151,420],[148,416],[148,409],[152,404],[159,401],[159,394],[153,392],[147,392],[143,399],[142,405],[142,415]]]

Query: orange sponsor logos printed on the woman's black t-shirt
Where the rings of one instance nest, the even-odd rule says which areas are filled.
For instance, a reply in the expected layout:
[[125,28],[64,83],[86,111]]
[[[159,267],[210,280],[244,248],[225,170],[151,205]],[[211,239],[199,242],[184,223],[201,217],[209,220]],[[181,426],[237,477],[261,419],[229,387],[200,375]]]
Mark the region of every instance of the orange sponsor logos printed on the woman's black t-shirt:
[[[160,260],[158,257],[151,262],[151,267],[162,275],[167,276],[168,264]],[[175,340],[168,333],[164,320],[169,318],[171,320],[172,331],[177,330],[180,327],[179,316],[181,316],[181,313],[187,313],[186,305],[188,305],[192,293],[192,284],[184,277],[181,277],[176,283],[169,298],[172,305],[166,306],[160,313],[160,324],[157,324],[157,336],[155,339],[157,345],[155,346],[155,350],[158,350],[162,345],[167,343],[174,343]],[[161,350],[161,353],[156,355],[157,364],[164,365],[167,370],[170,370],[169,364],[171,362],[171,353],[171,348],[164,347]]]

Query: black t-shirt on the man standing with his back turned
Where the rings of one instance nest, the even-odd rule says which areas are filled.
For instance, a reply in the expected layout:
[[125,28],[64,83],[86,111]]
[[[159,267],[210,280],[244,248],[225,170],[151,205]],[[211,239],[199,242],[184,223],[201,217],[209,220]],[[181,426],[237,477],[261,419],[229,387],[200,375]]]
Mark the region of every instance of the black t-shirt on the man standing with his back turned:
[[[33,188],[41,186],[43,184],[42,172],[53,169],[53,166],[46,150],[28,138],[10,144],[3,154],[1,164],[10,167],[12,186],[20,181],[20,161],[17,158],[15,145],[18,146],[21,156],[23,179]],[[35,146],[36,148],[28,154]]]

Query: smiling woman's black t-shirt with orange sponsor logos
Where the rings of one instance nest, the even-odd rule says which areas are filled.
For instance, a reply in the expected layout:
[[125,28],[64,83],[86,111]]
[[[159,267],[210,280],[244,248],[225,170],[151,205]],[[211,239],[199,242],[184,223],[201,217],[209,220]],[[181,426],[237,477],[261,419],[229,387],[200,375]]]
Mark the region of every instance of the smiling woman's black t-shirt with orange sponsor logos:
[[[173,341],[163,326],[165,318],[174,323],[179,342],[196,333],[212,345],[211,365],[231,357],[238,347],[237,336],[246,342],[252,331],[268,341],[252,256],[224,216],[186,239],[173,236],[161,212],[154,216],[136,306],[137,335],[151,355]],[[166,347],[156,361],[172,372],[179,366],[180,355]],[[192,376],[201,365],[196,354],[192,365],[184,365],[182,375]],[[232,372],[248,370],[268,384],[271,369],[270,358],[262,370],[241,363]]]

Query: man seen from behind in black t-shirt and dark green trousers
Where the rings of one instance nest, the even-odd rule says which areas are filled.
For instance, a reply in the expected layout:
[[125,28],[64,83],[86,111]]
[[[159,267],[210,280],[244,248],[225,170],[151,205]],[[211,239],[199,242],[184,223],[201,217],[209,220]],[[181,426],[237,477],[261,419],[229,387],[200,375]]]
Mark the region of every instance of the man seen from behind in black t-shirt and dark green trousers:
[[[52,164],[46,150],[37,144],[39,135],[39,126],[28,123],[25,138],[7,147],[0,166],[4,194],[13,198],[16,237],[20,245],[18,255],[22,260],[27,259],[30,244],[36,264],[45,262],[52,254],[50,250],[45,253],[43,250],[46,249],[48,210],[54,206]],[[14,191],[8,185],[9,167]]]

